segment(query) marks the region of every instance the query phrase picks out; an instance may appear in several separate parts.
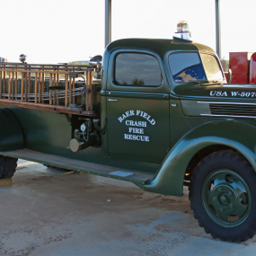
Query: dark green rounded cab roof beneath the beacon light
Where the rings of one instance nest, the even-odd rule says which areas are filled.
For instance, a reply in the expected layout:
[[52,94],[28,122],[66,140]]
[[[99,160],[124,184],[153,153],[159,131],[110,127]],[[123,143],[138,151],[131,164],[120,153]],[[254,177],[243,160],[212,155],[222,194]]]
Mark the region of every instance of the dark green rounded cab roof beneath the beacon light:
[[115,40],[107,46],[107,51],[113,49],[148,49],[156,52],[160,57],[170,50],[204,50],[215,53],[205,45],[186,40],[159,40],[159,39],[124,39]]

